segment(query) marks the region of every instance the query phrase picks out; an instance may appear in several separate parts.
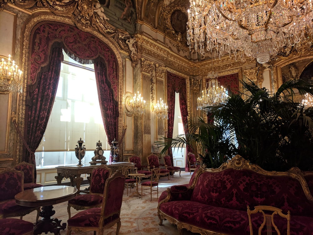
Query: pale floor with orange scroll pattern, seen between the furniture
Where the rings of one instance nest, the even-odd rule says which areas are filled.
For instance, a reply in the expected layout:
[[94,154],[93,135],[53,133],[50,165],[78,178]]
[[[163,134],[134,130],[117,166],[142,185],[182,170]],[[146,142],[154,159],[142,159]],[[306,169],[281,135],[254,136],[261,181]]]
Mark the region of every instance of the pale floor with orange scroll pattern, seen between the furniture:
[[[170,176],[161,177],[159,180],[159,196],[163,191],[172,185],[187,184],[190,180],[190,173],[182,171],[181,176],[176,172],[174,177]],[[139,185],[139,191],[141,187]],[[132,192],[134,189],[132,189]],[[148,235],[148,234],[159,234],[159,235],[178,235],[179,232],[175,225],[172,225],[168,221],[163,221],[163,225],[159,225],[159,219],[157,217],[157,195],[156,192],[152,193],[152,201],[150,201],[150,194],[144,195],[143,198],[139,197],[129,197],[127,196],[126,189],[124,190],[123,203],[121,208],[121,229],[120,233],[123,234],[138,234],[138,235]],[[67,202],[54,205],[55,215],[62,222],[67,222]],[[76,214],[77,211],[73,208],[71,209],[71,215]],[[36,212],[32,212],[25,217],[24,220],[34,222],[36,219]],[[116,225],[105,231],[105,234],[113,235],[116,232]],[[66,229],[61,230],[61,235],[66,234]],[[73,232],[72,232],[73,234]],[[92,235],[93,232],[80,233],[82,235]],[[189,231],[184,231],[184,235],[194,234]]]

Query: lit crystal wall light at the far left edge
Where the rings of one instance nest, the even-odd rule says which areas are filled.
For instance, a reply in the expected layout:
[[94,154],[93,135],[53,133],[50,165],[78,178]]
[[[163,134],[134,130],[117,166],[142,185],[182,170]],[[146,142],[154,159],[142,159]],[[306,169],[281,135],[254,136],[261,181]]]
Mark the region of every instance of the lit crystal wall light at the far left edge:
[[0,62],[0,93],[8,94],[11,91],[21,93],[22,88],[22,71],[18,69],[15,61],[11,60],[11,55],[9,55],[8,61],[2,58]]

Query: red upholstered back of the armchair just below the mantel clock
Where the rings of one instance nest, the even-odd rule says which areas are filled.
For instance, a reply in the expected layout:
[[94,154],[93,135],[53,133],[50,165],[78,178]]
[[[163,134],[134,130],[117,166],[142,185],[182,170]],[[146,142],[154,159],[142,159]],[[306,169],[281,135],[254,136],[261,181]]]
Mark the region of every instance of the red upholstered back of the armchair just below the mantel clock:
[[91,173],[90,193],[103,194],[106,180],[111,176],[111,169],[105,165],[100,165]]

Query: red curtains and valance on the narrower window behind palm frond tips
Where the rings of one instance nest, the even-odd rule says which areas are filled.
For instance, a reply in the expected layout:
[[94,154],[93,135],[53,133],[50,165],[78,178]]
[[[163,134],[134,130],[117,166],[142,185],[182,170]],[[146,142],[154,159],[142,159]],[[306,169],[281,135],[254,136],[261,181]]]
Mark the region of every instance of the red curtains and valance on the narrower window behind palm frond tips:
[[[184,126],[185,134],[188,133],[188,110],[187,110],[187,88],[186,79],[177,76],[170,72],[167,72],[167,102],[168,102],[168,121],[167,121],[167,137],[173,137],[174,128],[174,112],[175,112],[175,92],[179,93],[179,105],[180,112],[182,115],[182,124]],[[191,151],[191,148],[186,146],[186,154]],[[173,154],[172,149],[169,149],[169,155],[171,156],[172,165],[173,164]],[[185,163],[185,171],[189,171],[187,164],[187,157]]]

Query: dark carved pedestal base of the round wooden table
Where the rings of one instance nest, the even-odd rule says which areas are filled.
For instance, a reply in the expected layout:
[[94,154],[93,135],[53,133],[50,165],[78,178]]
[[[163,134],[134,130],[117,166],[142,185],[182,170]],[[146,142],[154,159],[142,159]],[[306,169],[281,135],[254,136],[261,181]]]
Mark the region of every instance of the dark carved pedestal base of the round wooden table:
[[66,223],[62,223],[62,220],[58,220],[57,218],[53,218],[51,216],[54,215],[55,211],[52,210],[53,206],[43,206],[42,211],[39,213],[41,220],[38,220],[34,227],[34,235],[38,235],[41,233],[47,234],[48,232],[54,233],[54,235],[60,235],[60,230],[64,230],[66,228]]

